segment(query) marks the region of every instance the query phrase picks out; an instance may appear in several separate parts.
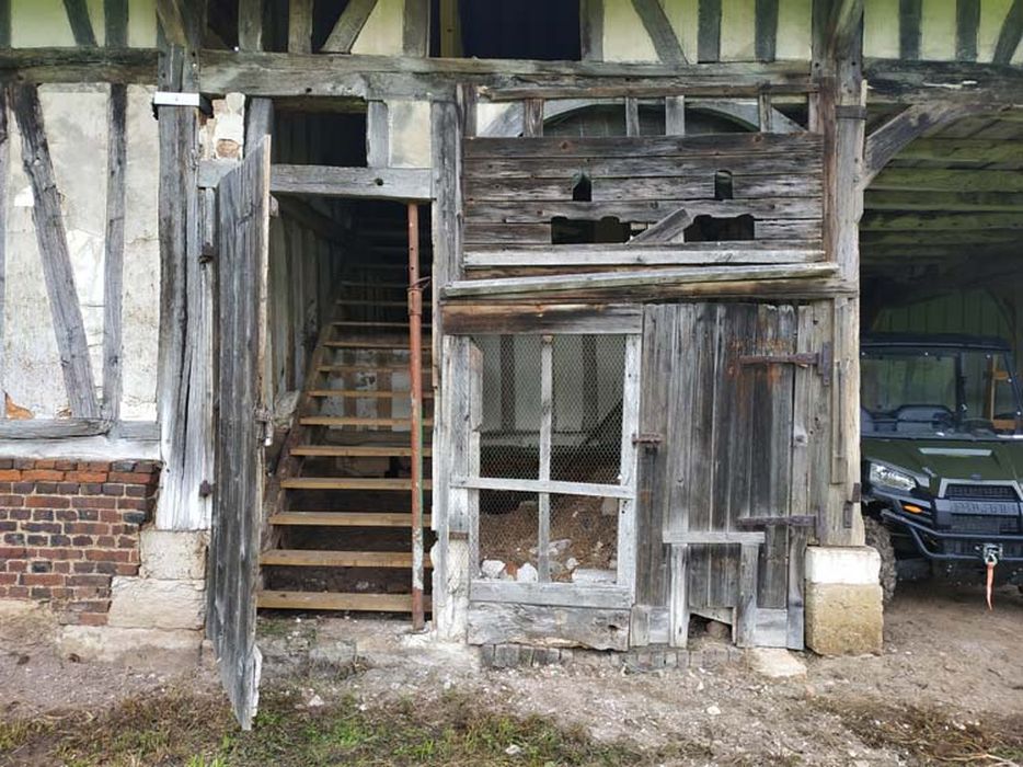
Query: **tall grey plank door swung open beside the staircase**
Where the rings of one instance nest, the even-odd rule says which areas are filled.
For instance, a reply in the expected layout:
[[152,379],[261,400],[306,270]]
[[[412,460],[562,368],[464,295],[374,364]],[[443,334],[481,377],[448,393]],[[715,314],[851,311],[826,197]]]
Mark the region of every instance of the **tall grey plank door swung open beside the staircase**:
[[269,139],[221,179],[218,211],[216,483],[206,633],[243,729],[258,703],[255,587],[263,508],[263,357]]

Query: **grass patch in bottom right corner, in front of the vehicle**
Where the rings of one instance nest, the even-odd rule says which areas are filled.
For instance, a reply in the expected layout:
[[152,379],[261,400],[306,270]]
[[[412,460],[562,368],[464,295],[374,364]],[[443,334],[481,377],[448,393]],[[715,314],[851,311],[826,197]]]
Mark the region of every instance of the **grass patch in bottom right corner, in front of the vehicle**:
[[917,706],[831,701],[826,708],[867,745],[892,748],[923,764],[1023,763],[1023,713],[956,721]]

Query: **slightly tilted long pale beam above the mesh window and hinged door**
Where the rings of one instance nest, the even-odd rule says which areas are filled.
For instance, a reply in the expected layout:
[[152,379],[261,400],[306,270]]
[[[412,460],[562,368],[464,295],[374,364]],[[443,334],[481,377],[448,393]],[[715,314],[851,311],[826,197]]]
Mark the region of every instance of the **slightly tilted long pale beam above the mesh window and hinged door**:
[[694,266],[634,272],[595,272],[543,277],[498,277],[469,279],[449,285],[444,296],[515,295],[519,293],[559,293],[567,290],[624,288],[655,282],[658,285],[687,283],[720,283],[735,281],[814,279],[830,277],[835,264],[786,264],[756,266]]

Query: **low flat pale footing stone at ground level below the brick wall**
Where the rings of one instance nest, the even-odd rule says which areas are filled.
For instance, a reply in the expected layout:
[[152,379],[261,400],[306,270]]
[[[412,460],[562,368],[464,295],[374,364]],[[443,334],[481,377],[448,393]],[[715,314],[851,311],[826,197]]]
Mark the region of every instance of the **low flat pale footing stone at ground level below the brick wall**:
[[203,645],[199,630],[129,629],[114,626],[65,626],[58,638],[64,655],[83,661],[152,660],[152,653],[182,653],[197,661]]

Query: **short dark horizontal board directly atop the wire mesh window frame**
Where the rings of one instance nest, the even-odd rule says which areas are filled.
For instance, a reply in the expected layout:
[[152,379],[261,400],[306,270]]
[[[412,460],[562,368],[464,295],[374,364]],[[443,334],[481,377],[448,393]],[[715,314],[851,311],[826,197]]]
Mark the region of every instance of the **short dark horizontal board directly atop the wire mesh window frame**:
[[521,306],[494,304],[446,304],[441,306],[445,332],[478,333],[637,333],[641,310],[632,305]]

